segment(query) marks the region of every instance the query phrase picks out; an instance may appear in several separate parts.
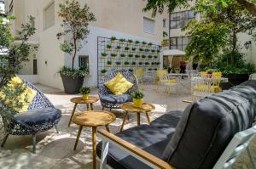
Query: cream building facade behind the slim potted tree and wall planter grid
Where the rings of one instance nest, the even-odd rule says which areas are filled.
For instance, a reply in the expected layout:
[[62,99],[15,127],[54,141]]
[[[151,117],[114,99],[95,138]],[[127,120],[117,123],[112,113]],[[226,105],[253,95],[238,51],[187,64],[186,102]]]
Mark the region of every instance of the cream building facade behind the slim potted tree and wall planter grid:
[[[61,19],[58,17],[59,4],[64,0],[5,0],[6,14],[14,15],[12,31],[25,23],[28,15],[35,17],[36,34],[29,40],[38,45],[36,54],[30,56],[20,74],[26,75],[32,82],[63,88],[61,77],[56,73],[61,66],[70,65],[71,57],[60,50],[60,40],[56,34],[61,31]],[[96,22],[90,25],[90,35],[84,42],[83,48],[75,60],[88,62],[90,75],[84,79],[84,84],[96,87],[97,85],[97,37],[117,37],[132,39],[133,41],[152,42],[160,45],[163,32],[169,31],[169,14],[158,14],[152,18],[151,13],[144,13],[145,0],[85,0],[90,11],[96,15]]]

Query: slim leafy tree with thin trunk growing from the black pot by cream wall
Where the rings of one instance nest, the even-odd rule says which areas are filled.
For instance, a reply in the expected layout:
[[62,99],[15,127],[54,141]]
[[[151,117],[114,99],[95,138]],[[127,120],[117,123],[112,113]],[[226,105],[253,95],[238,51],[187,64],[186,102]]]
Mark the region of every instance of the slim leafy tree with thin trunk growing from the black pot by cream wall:
[[90,31],[88,29],[91,21],[96,21],[95,15],[90,13],[87,4],[81,7],[77,0],[66,1],[60,4],[58,16],[61,17],[61,27],[63,31],[57,37],[68,36],[70,39],[61,42],[61,50],[72,56],[72,70],[74,69],[74,59],[77,52],[82,48],[82,42],[87,38]]

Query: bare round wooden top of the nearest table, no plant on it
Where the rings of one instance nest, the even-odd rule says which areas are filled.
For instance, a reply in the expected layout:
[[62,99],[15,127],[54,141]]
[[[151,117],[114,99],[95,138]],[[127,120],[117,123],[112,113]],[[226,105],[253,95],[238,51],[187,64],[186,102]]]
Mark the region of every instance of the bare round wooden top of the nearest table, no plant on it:
[[84,127],[105,126],[115,121],[115,115],[108,111],[92,110],[73,115],[73,123]]

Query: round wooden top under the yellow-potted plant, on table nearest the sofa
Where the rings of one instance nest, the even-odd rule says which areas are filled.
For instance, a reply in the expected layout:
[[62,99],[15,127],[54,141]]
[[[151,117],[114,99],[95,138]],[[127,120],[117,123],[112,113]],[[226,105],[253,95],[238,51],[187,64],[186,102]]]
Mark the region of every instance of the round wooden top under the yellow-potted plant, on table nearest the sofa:
[[120,108],[125,111],[131,111],[134,113],[143,113],[143,112],[150,112],[155,109],[153,104],[143,103],[143,107],[139,108],[134,106],[133,102],[127,102],[125,104],[121,104]]

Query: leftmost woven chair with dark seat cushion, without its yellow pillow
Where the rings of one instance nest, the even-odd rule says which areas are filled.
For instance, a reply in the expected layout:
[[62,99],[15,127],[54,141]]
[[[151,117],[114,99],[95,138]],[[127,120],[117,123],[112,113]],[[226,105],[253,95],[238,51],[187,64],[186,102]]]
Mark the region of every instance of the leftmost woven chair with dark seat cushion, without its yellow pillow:
[[[32,88],[37,91],[36,96],[32,100],[32,103],[29,105],[26,112],[16,113],[13,116],[13,119],[7,121],[9,124],[5,124],[3,120],[3,126],[9,128],[6,131],[6,135],[3,138],[3,143],[1,147],[4,146],[9,134],[11,135],[32,135],[32,152],[36,153],[36,134],[39,132],[48,131],[52,127],[55,127],[56,132],[58,132],[57,124],[61,119],[61,110],[55,109],[54,105],[49,102],[37,87],[33,86],[30,82],[23,80],[27,87]],[[0,102],[0,106],[4,106]],[[4,118],[4,115],[1,115]],[[7,127],[9,125],[9,127]]]

